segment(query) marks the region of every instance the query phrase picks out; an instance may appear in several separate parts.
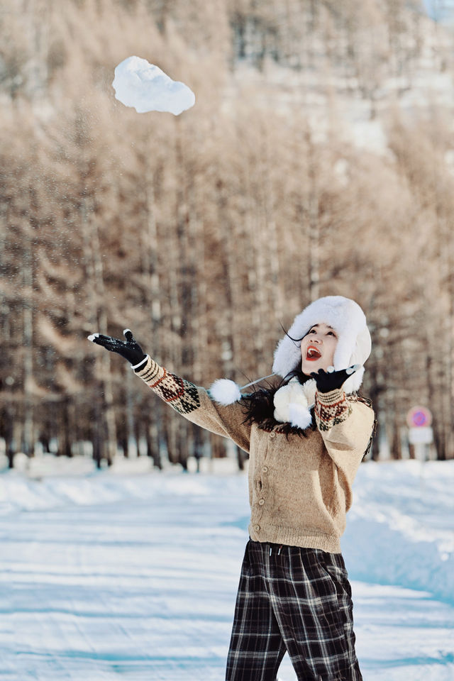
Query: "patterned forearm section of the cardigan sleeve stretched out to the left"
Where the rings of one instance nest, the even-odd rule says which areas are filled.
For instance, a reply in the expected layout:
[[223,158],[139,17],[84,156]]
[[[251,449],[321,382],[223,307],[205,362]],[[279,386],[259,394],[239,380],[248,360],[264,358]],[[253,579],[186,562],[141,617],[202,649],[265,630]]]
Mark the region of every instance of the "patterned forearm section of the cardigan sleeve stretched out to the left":
[[194,383],[167,372],[151,358],[138,374],[164,402],[170,404],[179,414],[190,414],[194,409],[199,409],[199,391]]

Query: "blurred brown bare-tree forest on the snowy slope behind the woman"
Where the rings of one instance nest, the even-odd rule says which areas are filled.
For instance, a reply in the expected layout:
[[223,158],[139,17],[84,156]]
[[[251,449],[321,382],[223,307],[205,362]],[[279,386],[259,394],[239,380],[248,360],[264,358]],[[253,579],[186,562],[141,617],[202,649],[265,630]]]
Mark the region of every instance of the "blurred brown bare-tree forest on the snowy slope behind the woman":
[[[129,327],[177,374],[243,384],[327,294],[367,314],[372,457],[412,455],[406,412],[423,404],[432,455],[453,458],[453,35],[418,0],[3,0],[10,465],[18,451],[226,455],[87,335]],[[116,101],[131,55],[195,106]]]

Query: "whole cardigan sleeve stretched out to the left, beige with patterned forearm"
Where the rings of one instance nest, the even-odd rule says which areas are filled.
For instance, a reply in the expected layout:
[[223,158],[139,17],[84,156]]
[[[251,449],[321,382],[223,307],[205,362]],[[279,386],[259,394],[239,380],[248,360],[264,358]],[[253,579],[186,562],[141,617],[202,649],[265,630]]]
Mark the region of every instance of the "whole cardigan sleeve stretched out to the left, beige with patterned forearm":
[[150,357],[145,366],[135,373],[185,419],[211,433],[230,438],[249,452],[250,426],[244,423],[245,414],[240,402],[221,406],[209,397],[204,388],[168,372]]

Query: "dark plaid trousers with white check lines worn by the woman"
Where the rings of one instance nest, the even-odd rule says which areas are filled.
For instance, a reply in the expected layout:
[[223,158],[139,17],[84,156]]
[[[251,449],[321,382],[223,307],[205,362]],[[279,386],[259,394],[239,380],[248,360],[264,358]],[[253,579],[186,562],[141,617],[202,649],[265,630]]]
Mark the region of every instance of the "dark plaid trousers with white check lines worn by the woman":
[[299,681],[362,681],[343,557],[250,540],[226,681],[275,681],[286,650]]

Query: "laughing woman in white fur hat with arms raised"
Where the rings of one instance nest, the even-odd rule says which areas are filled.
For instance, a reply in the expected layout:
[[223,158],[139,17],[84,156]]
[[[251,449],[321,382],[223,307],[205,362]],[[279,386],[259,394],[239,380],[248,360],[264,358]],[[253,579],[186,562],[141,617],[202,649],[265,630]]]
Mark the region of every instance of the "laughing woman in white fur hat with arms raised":
[[126,358],[189,421],[250,454],[245,550],[226,681],[275,681],[287,650],[304,681],[360,681],[353,604],[340,537],[374,413],[358,397],[370,355],[365,315],[329,296],[279,341],[279,386],[241,396],[229,381],[209,392],[157,365],[131,331],[89,340]]

